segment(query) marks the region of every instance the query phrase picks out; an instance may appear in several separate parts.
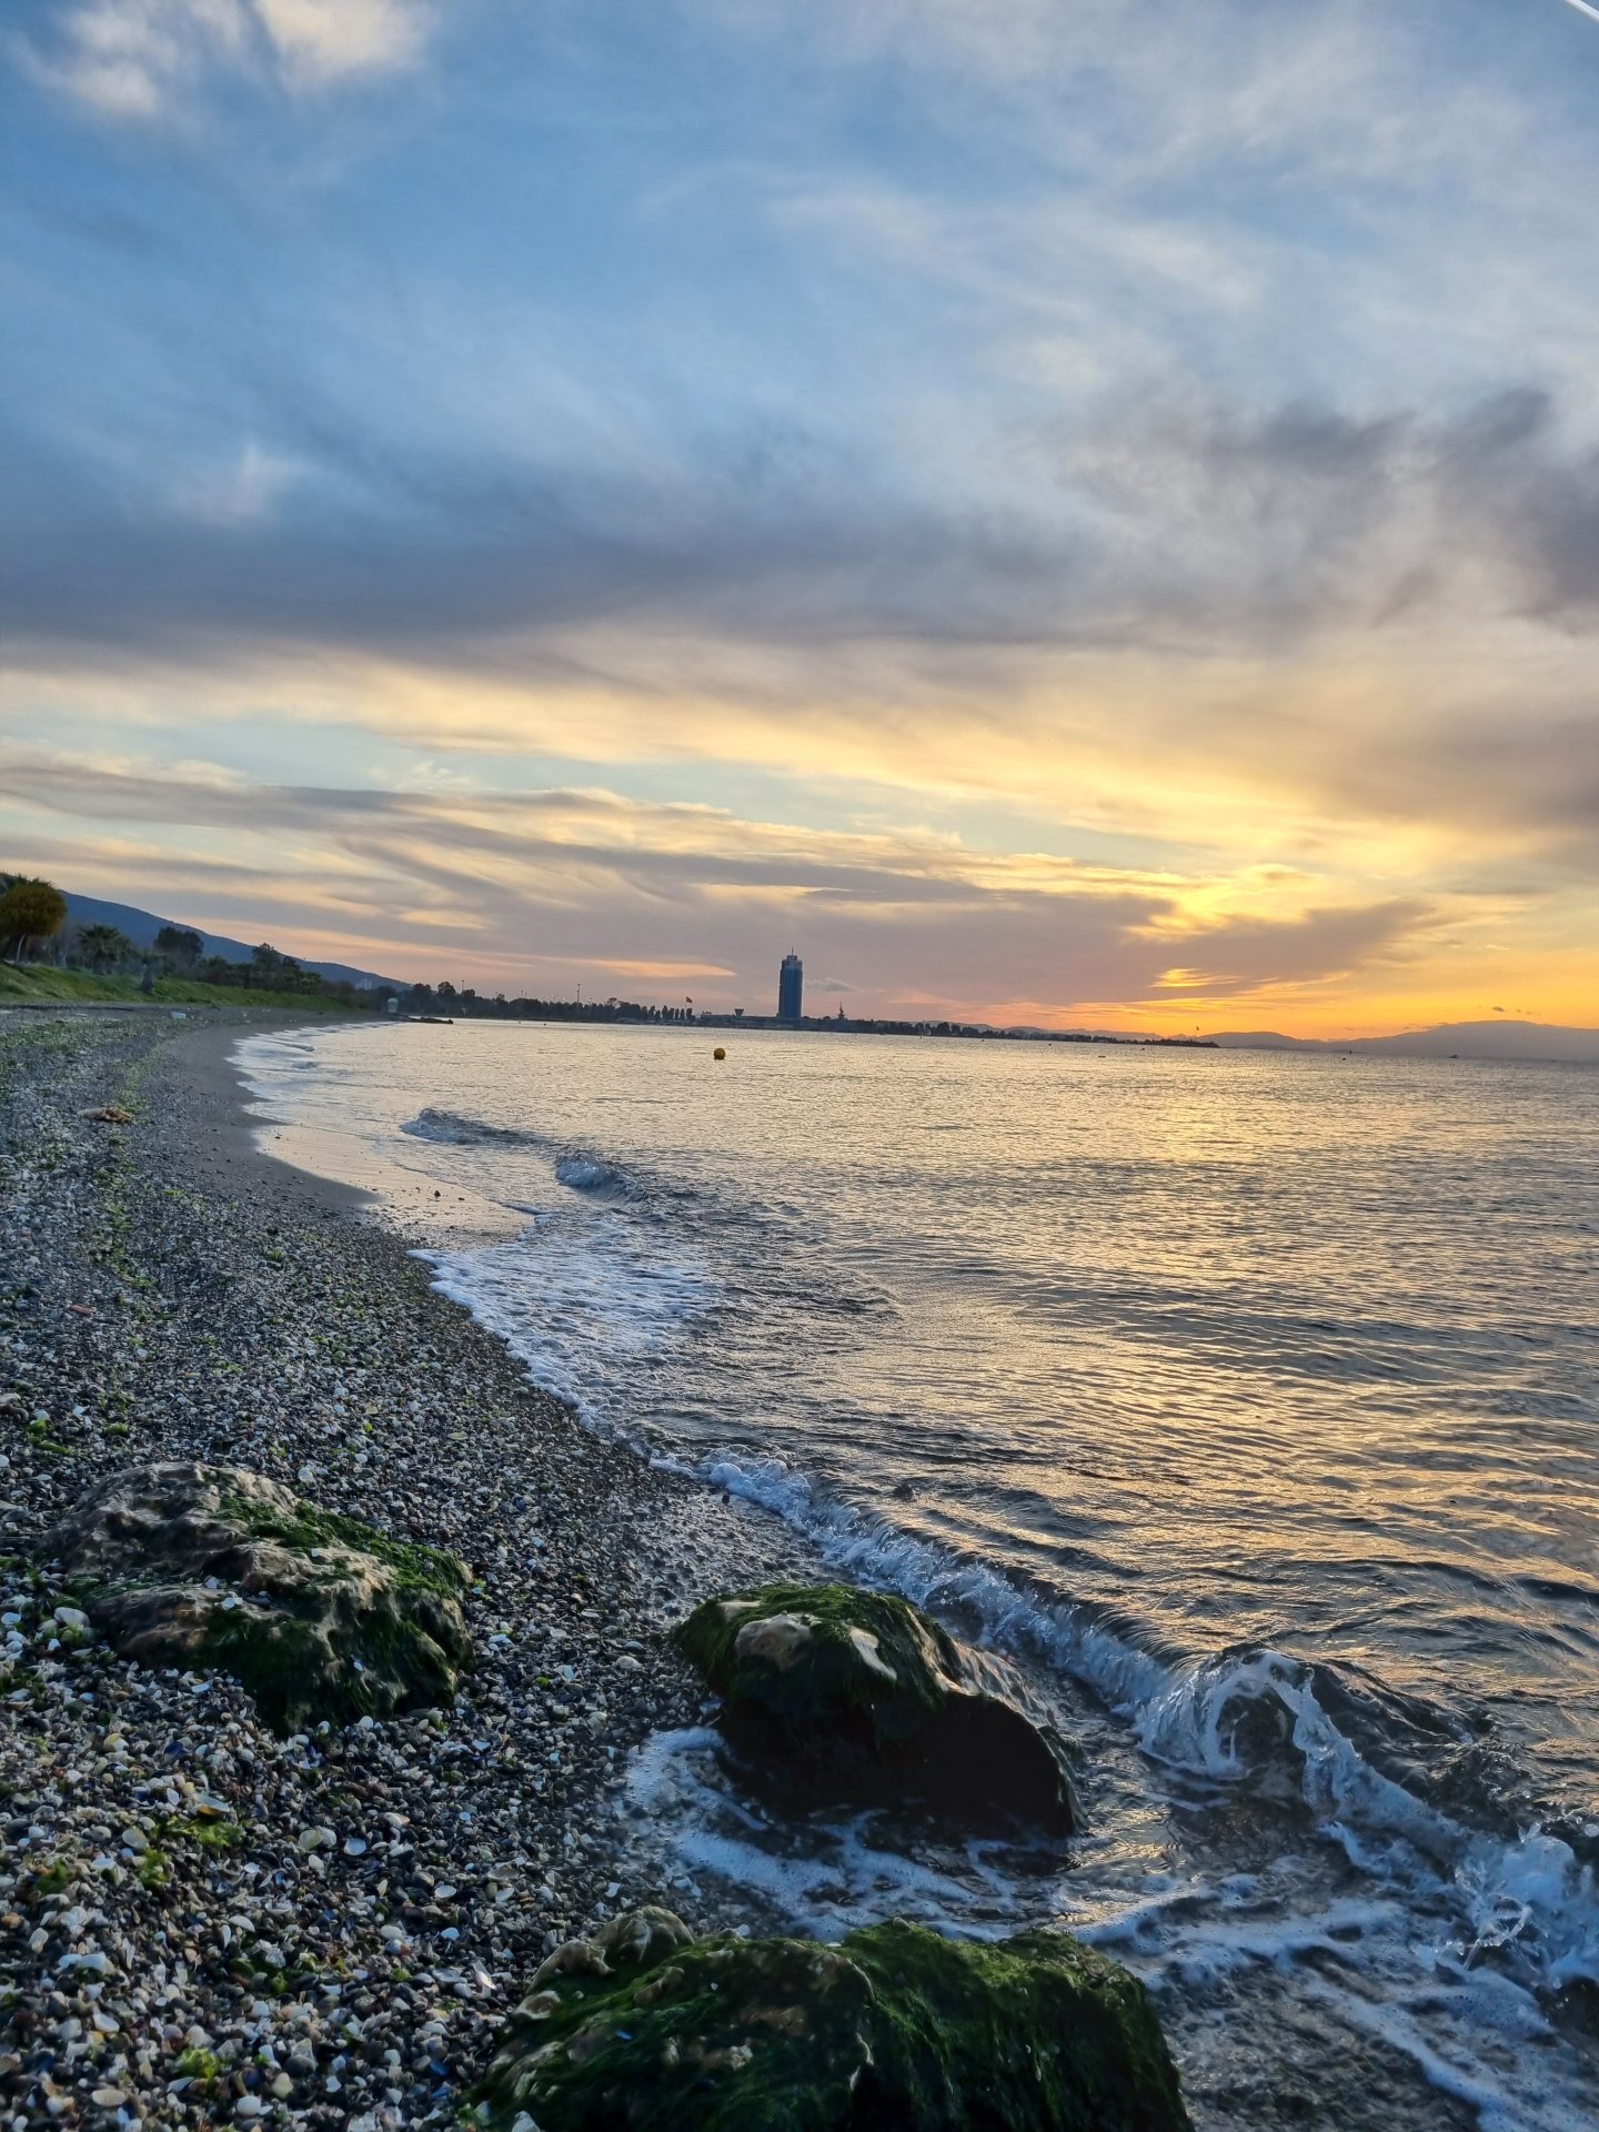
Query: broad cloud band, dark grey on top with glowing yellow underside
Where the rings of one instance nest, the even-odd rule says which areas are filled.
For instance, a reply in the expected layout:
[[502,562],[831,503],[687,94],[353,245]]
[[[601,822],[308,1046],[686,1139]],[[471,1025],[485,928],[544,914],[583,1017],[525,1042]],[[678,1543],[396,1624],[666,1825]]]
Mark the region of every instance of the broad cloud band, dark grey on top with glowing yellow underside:
[[1034,426],[1025,492],[987,507],[827,452],[750,480],[746,439],[682,467],[394,450],[307,403],[162,486],[19,439],[13,695],[143,672],[203,721],[316,704],[431,755],[1028,795],[1249,857],[1382,846],[1388,874],[1422,859],[1399,825],[1431,866],[1599,863],[1599,452],[1544,390],[1439,418],[1168,379]]

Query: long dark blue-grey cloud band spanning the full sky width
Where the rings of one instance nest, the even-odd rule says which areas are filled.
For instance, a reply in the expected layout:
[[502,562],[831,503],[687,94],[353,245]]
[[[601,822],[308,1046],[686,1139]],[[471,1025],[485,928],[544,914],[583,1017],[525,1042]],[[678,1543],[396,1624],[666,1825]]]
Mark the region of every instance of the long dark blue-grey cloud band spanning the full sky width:
[[1454,420],[1128,390],[1030,446],[994,437],[996,469],[1023,450],[1028,480],[959,501],[849,467],[821,429],[742,424],[623,471],[559,441],[514,463],[394,437],[273,365],[230,390],[232,435],[275,469],[232,512],[154,446],[130,473],[79,431],[0,437],[17,652],[492,665],[514,646],[537,676],[597,623],[817,663],[861,644],[1271,648],[1463,599],[1599,623],[1599,450],[1531,386]]

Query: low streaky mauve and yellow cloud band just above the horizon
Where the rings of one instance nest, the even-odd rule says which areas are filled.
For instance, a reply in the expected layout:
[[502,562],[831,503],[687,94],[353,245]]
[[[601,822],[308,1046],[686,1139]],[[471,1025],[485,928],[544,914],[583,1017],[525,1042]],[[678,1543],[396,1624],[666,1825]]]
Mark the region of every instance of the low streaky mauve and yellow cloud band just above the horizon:
[[[701,1004],[748,1004],[804,940],[814,970],[851,970],[812,991],[851,994],[861,1013],[1025,1000],[1036,1019],[1040,1000],[1070,1015],[1104,1000],[1164,1011],[1286,983],[1313,991],[1443,923],[1418,900],[1318,906],[1311,883],[1283,900],[1271,883],[979,853],[927,831],[797,829],[605,791],[286,787],[38,753],[4,763],[4,789],[43,819],[115,823],[119,842],[81,853],[28,834],[28,853],[68,885],[113,878],[211,927],[275,927],[290,944],[296,927],[326,938],[333,917],[345,959],[422,957],[431,974],[495,985],[578,964],[693,968]],[[160,836],[139,842],[141,823],[181,829],[177,861]]]

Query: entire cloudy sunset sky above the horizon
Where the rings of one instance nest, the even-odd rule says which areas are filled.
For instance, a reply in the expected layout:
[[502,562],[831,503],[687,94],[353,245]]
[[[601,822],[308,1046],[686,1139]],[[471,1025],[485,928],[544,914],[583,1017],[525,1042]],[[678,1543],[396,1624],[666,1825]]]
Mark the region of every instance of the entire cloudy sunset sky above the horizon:
[[1599,1023],[1576,0],[13,0],[0,866],[486,991]]

